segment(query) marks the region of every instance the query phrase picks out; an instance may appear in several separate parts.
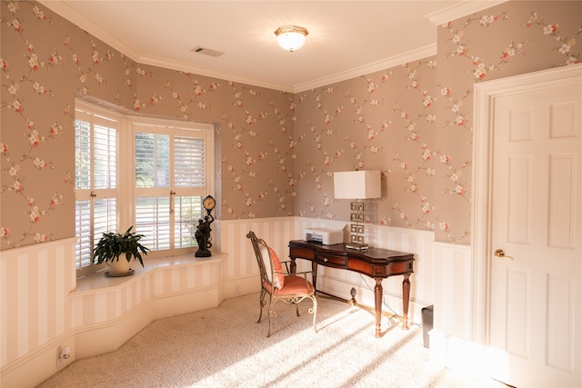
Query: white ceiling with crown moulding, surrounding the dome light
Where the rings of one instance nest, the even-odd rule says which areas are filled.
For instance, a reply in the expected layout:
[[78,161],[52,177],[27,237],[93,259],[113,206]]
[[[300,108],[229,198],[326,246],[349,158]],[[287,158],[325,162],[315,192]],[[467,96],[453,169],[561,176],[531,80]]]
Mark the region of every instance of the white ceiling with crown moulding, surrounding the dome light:
[[[437,28],[499,1],[39,0],[135,61],[300,92],[437,53]],[[284,51],[280,25],[307,28]],[[200,55],[196,46],[224,52]]]

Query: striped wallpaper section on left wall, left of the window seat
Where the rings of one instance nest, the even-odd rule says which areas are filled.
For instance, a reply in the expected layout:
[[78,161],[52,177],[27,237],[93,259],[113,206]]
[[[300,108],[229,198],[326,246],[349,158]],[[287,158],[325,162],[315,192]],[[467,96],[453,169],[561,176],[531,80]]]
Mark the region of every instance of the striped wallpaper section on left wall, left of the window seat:
[[75,238],[0,252],[1,366],[71,329]]

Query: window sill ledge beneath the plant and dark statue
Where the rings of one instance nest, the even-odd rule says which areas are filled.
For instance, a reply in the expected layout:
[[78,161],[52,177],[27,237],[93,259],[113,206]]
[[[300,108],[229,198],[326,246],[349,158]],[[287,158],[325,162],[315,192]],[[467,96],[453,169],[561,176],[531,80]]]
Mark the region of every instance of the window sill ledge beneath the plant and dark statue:
[[73,293],[95,292],[96,290],[105,290],[108,288],[121,287],[124,284],[137,281],[139,278],[150,274],[157,269],[176,268],[180,266],[196,266],[200,264],[210,264],[220,261],[226,254],[213,254],[210,257],[196,257],[194,254],[184,254],[174,257],[162,257],[159,259],[144,260],[144,267],[135,262],[132,264],[134,274],[123,277],[107,277],[107,269],[95,274],[88,274],[76,280],[76,288]]

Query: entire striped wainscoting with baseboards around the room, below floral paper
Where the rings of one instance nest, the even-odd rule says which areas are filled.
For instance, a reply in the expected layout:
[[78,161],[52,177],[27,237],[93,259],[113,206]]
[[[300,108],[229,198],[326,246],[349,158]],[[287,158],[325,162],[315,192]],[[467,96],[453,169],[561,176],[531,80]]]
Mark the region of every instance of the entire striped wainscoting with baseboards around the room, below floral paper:
[[[345,226],[303,217],[216,220],[211,258],[146,260],[146,268],[136,265],[135,275],[126,278],[95,274],[77,281],[75,238],[0,252],[0,385],[34,386],[77,357],[114,350],[154,319],[258,292],[256,258],[246,238],[250,230],[286,260],[288,241],[303,238],[304,228]],[[426,231],[379,225],[366,225],[365,231],[369,244],[415,255],[411,321],[420,323],[421,308],[435,304],[435,328],[467,338],[468,247],[435,244]],[[311,264],[297,260],[297,267],[309,270]],[[317,285],[346,299],[354,287],[359,303],[374,305],[374,281],[366,276],[320,266]],[[402,277],[383,285],[384,311],[401,314]],[[71,358],[57,366],[56,351],[65,344]]]

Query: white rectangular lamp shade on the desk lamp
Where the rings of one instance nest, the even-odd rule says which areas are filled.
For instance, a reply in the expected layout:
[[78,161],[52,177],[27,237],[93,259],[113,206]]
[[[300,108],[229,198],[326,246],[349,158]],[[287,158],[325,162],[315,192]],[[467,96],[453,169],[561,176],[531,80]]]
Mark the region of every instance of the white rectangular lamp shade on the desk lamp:
[[336,199],[366,199],[382,196],[380,171],[342,171],[334,173]]

